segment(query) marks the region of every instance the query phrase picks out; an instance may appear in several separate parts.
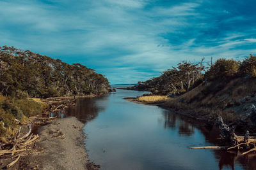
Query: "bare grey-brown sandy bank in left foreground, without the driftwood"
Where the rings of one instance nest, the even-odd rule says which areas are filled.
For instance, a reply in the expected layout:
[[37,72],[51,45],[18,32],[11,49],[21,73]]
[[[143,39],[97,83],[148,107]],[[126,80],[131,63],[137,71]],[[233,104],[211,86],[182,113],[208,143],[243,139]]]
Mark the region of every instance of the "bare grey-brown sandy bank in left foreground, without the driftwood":
[[19,167],[31,169],[88,169],[88,154],[84,148],[84,124],[77,118],[58,118],[38,129],[36,142],[43,153],[29,155]]

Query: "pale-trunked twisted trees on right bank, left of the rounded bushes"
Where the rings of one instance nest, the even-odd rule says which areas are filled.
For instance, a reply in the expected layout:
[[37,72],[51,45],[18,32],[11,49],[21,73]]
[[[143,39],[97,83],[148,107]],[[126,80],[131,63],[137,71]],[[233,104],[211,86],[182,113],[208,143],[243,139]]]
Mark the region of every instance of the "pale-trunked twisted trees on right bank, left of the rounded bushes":
[[204,58],[199,63],[184,60],[164,71],[161,76],[144,82],[138,82],[137,89],[150,90],[160,94],[182,94],[188,91],[196,81],[202,79],[205,70]]

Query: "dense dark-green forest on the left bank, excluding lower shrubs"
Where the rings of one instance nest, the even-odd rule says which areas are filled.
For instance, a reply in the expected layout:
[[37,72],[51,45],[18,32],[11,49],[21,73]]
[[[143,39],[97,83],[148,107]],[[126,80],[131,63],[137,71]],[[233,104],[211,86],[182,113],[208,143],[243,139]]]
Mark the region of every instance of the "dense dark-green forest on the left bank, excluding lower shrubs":
[[29,50],[0,47],[0,93],[3,96],[52,97],[104,94],[110,90],[102,74],[81,64]]

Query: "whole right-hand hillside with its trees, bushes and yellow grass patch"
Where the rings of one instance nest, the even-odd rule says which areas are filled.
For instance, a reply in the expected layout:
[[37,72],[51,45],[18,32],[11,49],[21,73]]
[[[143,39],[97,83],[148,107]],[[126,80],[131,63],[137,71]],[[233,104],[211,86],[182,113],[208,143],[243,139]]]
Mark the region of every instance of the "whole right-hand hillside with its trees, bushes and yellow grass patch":
[[[209,66],[200,76],[193,76],[198,73],[198,65],[194,69],[186,69],[190,72],[174,67],[157,78],[128,89],[151,91],[152,94],[146,96],[161,99],[155,103],[161,103],[164,108],[171,108],[183,115],[207,122],[215,122],[220,115],[228,124],[237,125],[241,130],[250,128],[250,132],[255,132],[256,57],[250,55],[243,61],[218,59]],[[166,74],[171,71],[183,76]],[[159,94],[167,98],[163,101],[163,97],[156,96]],[[137,97],[133,101],[154,103],[150,97]]]

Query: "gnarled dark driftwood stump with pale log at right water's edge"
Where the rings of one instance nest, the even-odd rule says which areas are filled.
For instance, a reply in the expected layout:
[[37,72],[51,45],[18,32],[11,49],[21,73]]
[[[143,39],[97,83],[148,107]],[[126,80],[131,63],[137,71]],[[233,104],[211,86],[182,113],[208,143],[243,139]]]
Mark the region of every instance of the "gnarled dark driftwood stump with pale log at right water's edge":
[[244,136],[237,136],[235,134],[235,126],[228,127],[219,116],[217,125],[220,128],[220,136],[225,143],[225,146],[200,146],[192,147],[191,149],[223,149],[223,150],[242,150],[242,155],[256,150],[256,137],[250,136],[249,131],[246,131]]

